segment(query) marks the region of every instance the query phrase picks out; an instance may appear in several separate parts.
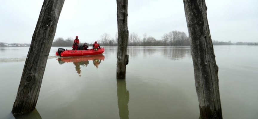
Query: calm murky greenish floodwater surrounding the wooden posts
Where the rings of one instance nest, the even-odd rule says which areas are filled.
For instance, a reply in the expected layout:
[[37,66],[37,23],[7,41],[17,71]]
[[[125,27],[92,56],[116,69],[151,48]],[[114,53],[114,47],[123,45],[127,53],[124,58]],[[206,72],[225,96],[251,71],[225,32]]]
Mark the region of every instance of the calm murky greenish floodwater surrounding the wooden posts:
[[[0,48],[1,119],[198,119],[190,47],[128,47],[116,79],[116,47],[102,55],[55,56],[52,47],[36,109],[11,110],[29,47]],[[66,47],[65,47],[66,49]],[[214,46],[225,119],[258,117],[258,47]]]

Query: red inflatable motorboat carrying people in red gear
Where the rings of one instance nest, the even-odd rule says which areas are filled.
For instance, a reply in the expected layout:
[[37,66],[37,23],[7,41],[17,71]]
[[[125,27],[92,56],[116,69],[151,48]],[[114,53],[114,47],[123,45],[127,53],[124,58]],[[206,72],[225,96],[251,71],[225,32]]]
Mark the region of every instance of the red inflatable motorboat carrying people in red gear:
[[56,52],[56,55],[61,57],[71,57],[71,56],[84,56],[84,55],[97,55],[102,54],[105,51],[105,48],[100,48],[98,50],[64,50],[63,48],[59,48]]

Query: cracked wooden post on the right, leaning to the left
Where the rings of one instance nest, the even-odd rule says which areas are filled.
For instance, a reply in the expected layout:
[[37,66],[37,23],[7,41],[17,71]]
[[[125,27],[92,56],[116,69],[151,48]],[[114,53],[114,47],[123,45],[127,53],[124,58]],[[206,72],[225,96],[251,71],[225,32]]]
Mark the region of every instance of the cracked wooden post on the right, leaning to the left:
[[205,0],[183,0],[191,40],[196,92],[201,117],[222,119],[216,65]]

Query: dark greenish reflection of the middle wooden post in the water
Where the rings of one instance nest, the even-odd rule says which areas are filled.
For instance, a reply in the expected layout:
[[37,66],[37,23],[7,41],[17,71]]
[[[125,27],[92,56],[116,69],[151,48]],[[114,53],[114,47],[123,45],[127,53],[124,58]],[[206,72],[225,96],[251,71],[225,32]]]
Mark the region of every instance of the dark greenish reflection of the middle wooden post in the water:
[[116,82],[119,117],[120,119],[129,119],[129,91],[126,90],[125,79],[117,79]]

